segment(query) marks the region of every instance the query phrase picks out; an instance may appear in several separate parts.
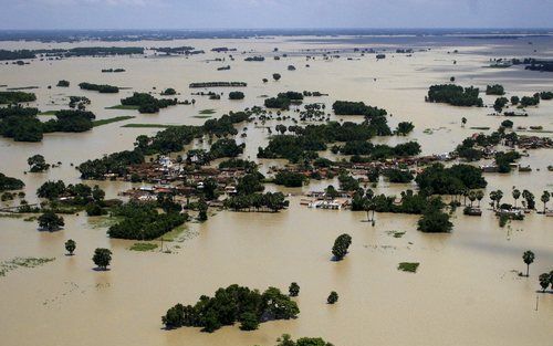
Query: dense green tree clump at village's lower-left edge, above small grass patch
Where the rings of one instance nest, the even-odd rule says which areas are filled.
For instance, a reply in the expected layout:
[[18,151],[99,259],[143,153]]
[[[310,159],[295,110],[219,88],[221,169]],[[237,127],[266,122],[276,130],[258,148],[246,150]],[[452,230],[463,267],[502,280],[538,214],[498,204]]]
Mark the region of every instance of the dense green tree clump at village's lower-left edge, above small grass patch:
[[[157,208],[166,210],[159,213]],[[156,203],[128,202],[112,211],[114,217],[124,218],[107,230],[107,235],[119,239],[152,240],[164,235],[188,219],[182,214],[180,205],[173,202],[168,196],[158,199]]]

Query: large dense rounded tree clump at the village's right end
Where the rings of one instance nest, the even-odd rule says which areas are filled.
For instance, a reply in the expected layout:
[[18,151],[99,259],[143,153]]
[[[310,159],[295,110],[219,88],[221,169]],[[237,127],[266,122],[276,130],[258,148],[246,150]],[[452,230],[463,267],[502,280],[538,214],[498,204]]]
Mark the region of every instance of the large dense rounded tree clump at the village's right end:
[[415,181],[425,195],[459,195],[488,185],[478,167],[463,164],[449,168],[434,164],[417,175]]

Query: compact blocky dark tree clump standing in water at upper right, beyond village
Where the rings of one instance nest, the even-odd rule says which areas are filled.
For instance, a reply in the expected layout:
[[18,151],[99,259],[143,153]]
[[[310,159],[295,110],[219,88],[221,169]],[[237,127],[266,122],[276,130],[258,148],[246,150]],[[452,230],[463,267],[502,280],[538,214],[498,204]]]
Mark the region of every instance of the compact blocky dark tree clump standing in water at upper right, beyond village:
[[431,85],[428,90],[427,102],[447,103],[453,106],[478,106],[483,105],[482,98],[478,96],[478,87],[462,87],[455,84]]

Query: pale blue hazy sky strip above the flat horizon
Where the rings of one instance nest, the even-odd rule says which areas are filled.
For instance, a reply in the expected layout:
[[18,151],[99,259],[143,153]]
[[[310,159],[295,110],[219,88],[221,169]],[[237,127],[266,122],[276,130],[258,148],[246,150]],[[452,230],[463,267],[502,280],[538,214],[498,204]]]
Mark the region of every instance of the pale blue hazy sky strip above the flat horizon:
[[553,0],[0,0],[0,29],[552,27]]

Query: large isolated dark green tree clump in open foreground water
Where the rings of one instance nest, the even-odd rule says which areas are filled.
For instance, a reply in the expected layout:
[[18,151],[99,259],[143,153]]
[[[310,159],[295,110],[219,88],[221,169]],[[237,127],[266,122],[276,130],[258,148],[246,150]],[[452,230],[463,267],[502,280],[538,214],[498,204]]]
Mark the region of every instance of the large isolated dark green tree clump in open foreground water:
[[295,318],[298,314],[298,304],[279,289],[269,287],[260,293],[234,284],[217,290],[212,297],[200,296],[194,306],[173,306],[161,322],[166,328],[201,327],[208,333],[240,322],[241,329],[254,331],[261,322]]

